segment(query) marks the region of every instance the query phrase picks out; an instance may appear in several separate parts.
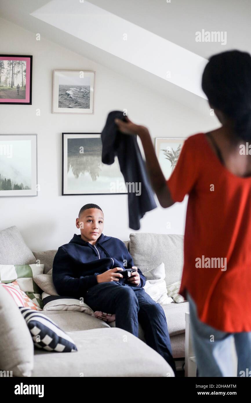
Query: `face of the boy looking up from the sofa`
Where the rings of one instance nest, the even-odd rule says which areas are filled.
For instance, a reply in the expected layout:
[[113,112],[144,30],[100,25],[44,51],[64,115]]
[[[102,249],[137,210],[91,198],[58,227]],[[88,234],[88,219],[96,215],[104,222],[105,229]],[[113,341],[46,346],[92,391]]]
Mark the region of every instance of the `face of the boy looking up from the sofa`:
[[97,208],[88,208],[76,218],[76,227],[80,229],[81,239],[95,245],[104,228],[104,214]]

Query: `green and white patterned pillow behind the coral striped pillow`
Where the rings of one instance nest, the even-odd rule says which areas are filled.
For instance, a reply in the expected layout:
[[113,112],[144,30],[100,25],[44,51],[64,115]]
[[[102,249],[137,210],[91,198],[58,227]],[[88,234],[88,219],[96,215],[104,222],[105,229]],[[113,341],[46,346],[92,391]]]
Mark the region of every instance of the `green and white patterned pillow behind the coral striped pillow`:
[[44,264],[0,264],[0,282],[12,283],[16,281],[22,291],[41,309],[43,301],[41,289],[33,280],[33,276],[44,272]]

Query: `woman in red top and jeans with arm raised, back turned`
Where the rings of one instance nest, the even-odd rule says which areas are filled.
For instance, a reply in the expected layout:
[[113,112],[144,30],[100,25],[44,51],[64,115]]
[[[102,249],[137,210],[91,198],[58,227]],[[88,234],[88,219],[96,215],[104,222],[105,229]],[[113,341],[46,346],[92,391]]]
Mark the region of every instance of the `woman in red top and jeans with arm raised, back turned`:
[[[116,121],[139,135],[152,187],[164,208],[189,195],[180,294],[189,300],[199,376],[251,370],[251,56],[238,50],[209,59],[202,89],[222,126],[189,137],[166,181],[146,127]],[[248,369],[248,374],[247,374]],[[251,371],[250,371],[251,375]]]

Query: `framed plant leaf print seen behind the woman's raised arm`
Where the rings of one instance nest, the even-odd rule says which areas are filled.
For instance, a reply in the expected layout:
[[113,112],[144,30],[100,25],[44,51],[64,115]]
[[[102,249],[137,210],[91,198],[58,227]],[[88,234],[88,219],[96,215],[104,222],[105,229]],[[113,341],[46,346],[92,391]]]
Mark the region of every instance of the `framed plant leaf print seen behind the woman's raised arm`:
[[166,181],[170,178],[177,164],[185,140],[186,139],[155,138],[156,156]]

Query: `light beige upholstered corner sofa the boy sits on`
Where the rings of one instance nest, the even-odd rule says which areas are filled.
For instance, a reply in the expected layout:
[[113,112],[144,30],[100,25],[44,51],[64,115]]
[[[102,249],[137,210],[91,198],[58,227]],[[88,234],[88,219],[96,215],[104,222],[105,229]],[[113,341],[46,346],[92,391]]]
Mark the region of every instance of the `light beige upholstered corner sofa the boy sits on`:
[[[166,284],[180,280],[183,266],[183,237],[180,235],[162,235],[151,233],[131,233],[130,241],[124,242],[129,249],[136,266],[144,273],[164,262]],[[44,273],[52,268],[56,250],[34,251],[25,244],[16,226],[0,231],[0,264],[32,264],[39,260],[44,264]],[[8,293],[7,293],[8,294]],[[9,297],[12,299],[11,297]],[[174,358],[185,356],[185,312],[189,312],[188,302],[170,303],[163,306],[166,314],[172,353]],[[19,309],[14,301],[6,301],[6,295],[0,295],[0,319],[8,325],[14,337],[13,348],[8,342],[6,331],[0,324],[0,339],[5,342],[6,362],[13,368],[20,367],[17,349],[22,350],[29,345],[29,354],[25,351],[23,358],[29,356],[29,374],[33,377],[131,377],[131,376],[174,376],[164,358],[154,349],[147,346],[144,333],[139,323],[139,337],[115,327],[115,322],[108,324],[95,316],[84,312],[73,311],[42,311],[50,317],[62,330],[68,333],[75,342],[78,351],[74,353],[58,353],[33,349],[29,333],[25,333],[26,323],[20,318]],[[5,318],[3,320],[3,318]],[[7,322],[6,322],[7,320]],[[23,343],[13,334],[15,323],[20,321],[16,332],[23,335]],[[8,326],[7,326],[8,327]],[[17,327],[17,326],[16,326]],[[20,329],[20,331],[19,331]],[[28,334],[28,335],[27,335]],[[26,340],[26,343],[24,342]],[[4,351],[3,344],[0,349]],[[8,350],[8,351],[7,351]],[[3,362],[3,360],[2,360]],[[11,370],[1,368],[0,370]],[[11,367],[8,365],[8,367]],[[22,367],[22,366],[21,366]],[[14,375],[15,376],[15,371]],[[20,375],[18,375],[20,376]],[[23,375],[24,376],[24,375]],[[25,375],[27,376],[27,375]]]

